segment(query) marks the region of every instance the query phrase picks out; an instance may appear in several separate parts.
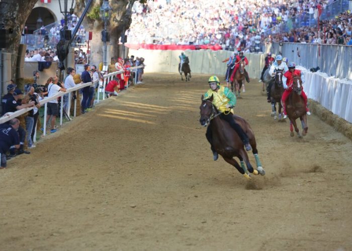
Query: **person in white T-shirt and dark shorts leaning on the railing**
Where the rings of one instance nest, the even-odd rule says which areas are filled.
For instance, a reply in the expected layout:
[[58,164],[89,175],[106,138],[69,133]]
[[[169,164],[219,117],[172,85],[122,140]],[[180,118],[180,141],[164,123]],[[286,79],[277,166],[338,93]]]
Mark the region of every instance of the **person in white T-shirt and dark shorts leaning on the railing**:
[[[58,82],[59,79],[57,76],[55,77],[50,77],[48,79],[48,97],[52,97],[55,94],[57,94],[59,91],[66,91],[65,88],[61,87],[61,83]],[[48,110],[47,110],[47,117],[46,117],[46,123],[48,123],[50,116],[51,116],[51,130],[50,133],[55,133],[55,120],[56,116],[59,115],[59,105],[57,99],[51,100],[48,102]]]

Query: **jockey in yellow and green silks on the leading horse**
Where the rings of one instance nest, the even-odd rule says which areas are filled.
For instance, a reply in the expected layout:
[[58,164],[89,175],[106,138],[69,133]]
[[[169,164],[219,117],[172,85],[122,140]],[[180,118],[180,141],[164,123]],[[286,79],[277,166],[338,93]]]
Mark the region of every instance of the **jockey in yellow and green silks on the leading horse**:
[[[208,80],[210,89],[204,94],[204,99],[208,99],[213,95],[212,104],[220,112],[219,116],[221,119],[227,121],[233,130],[236,131],[238,136],[241,138],[243,145],[247,151],[251,150],[249,145],[248,136],[243,132],[243,129],[236,123],[233,118],[233,107],[236,105],[236,96],[231,92],[231,90],[225,86],[220,86],[220,81],[217,76],[211,76]],[[213,159],[218,159],[218,153],[215,151],[212,142],[213,136],[211,131],[211,123],[207,128],[207,133],[205,134],[207,140],[210,143],[210,148],[213,152]]]

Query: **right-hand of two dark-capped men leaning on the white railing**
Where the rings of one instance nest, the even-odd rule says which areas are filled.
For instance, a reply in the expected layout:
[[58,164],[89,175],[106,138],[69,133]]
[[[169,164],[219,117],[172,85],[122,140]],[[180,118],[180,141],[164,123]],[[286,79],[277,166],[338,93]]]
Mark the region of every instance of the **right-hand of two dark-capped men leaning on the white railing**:
[[[27,108],[27,107],[32,107],[34,106],[34,101],[30,101],[28,104],[22,104],[22,95],[23,92],[20,89],[15,89],[13,92],[13,96],[9,97],[8,100],[6,101],[5,105],[5,113],[7,112],[15,112],[17,110]],[[25,139],[26,139],[26,131],[22,128],[18,128],[18,134],[20,137],[20,150],[19,154],[30,154],[30,152],[27,152],[24,150],[24,144],[25,144]],[[15,154],[15,147],[12,146],[10,148],[10,154],[11,156],[16,156]]]

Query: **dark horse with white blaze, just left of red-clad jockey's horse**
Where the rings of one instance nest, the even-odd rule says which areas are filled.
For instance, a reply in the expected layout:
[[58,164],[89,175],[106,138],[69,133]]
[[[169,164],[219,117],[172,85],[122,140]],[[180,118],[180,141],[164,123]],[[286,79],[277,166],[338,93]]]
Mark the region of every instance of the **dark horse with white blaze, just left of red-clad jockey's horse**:
[[277,115],[276,115],[276,103],[279,104],[279,121],[282,118],[282,113],[281,113],[281,109],[282,109],[282,104],[281,104],[281,97],[282,94],[284,93],[284,86],[283,86],[283,82],[282,82],[282,76],[283,76],[283,70],[276,70],[275,73],[275,77],[272,81],[274,81],[274,84],[272,85],[271,88],[271,101],[272,101],[272,116],[274,116],[274,119],[277,119]]

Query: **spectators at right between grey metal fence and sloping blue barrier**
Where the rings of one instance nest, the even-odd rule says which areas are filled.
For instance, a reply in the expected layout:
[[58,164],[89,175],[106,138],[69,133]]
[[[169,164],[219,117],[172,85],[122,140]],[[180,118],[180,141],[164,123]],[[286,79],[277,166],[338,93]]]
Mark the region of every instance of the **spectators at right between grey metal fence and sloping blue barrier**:
[[273,35],[273,42],[352,45],[352,14],[340,13],[335,19],[320,21],[315,27],[302,27]]

